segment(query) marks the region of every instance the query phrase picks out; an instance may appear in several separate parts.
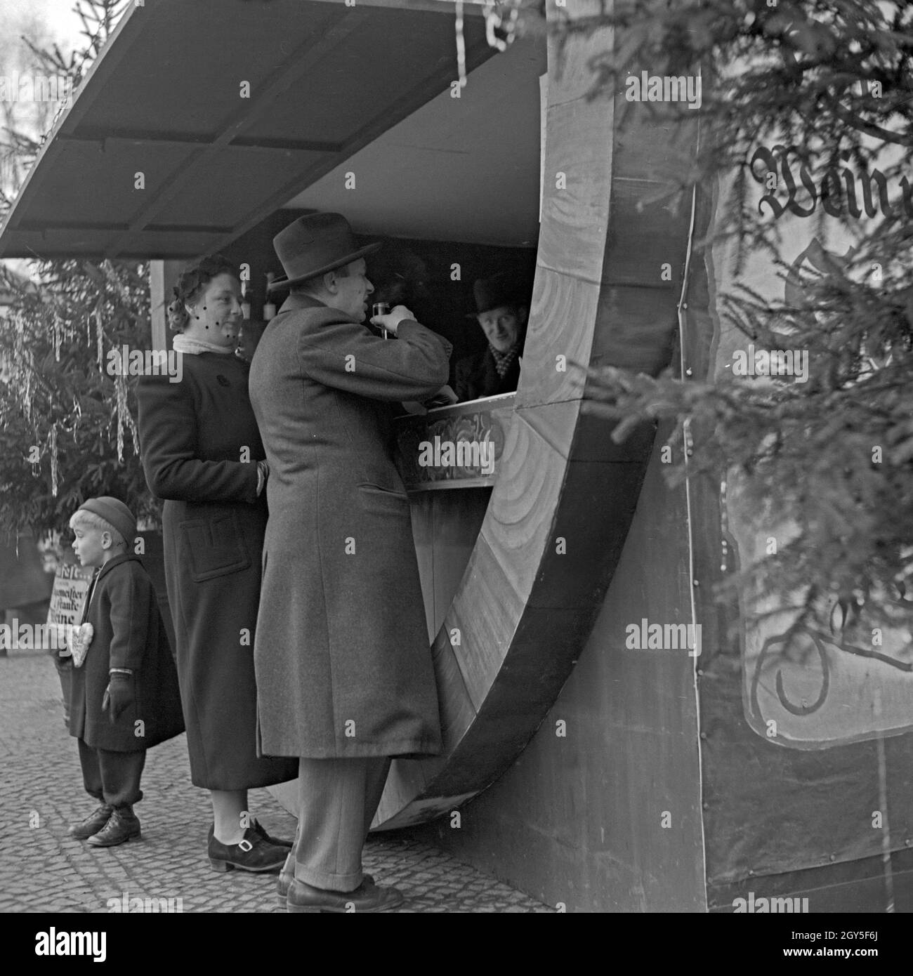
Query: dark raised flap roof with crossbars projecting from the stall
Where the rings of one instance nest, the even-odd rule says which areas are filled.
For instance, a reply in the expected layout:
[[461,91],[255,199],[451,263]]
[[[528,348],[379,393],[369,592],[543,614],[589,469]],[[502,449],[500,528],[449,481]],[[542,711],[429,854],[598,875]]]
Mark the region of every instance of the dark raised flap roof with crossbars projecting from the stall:
[[[477,8],[464,32],[472,71],[494,54]],[[456,71],[449,2],[131,6],[43,146],[0,256],[218,250],[449,90]]]

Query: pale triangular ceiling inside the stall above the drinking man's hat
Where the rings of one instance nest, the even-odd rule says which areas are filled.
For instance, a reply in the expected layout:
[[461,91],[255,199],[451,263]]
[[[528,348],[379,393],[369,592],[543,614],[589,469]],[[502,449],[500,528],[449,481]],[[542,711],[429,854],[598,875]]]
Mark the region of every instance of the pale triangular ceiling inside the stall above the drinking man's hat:
[[535,246],[546,69],[544,39],[515,41],[459,99],[442,92],[287,206],[342,211],[365,234]]

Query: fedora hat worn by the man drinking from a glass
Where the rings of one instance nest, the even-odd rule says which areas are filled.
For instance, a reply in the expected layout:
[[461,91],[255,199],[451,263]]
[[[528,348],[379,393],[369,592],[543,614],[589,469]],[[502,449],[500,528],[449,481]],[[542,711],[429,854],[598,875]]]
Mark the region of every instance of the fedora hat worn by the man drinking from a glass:
[[285,274],[270,282],[267,286],[270,292],[289,288],[372,254],[381,241],[358,247],[352,227],[342,214],[308,214],[283,227],[272,238],[272,246]]

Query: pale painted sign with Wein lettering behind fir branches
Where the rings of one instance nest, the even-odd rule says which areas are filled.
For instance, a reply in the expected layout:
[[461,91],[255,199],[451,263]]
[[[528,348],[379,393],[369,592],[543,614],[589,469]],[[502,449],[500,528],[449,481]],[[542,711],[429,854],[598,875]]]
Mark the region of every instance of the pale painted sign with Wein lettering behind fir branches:
[[[890,170],[899,153],[890,140],[882,145],[880,160],[885,169]],[[750,343],[724,319],[720,296],[742,284],[771,301],[801,305],[806,298],[804,271],[827,274],[836,264],[845,265],[866,227],[883,217],[913,221],[911,187],[906,178],[889,179],[878,168],[861,175],[846,158],[839,168],[812,172],[798,159],[795,147],[775,142],[759,143],[749,162],[754,182],[751,202],[781,231],[780,260],[789,270],[784,274],[768,255],[754,252],[736,278],[734,245],[713,249],[709,271],[714,290],[715,377],[721,380],[732,373],[750,378],[748,382],[804,383],[809,377],[809,353]],[[721,191],[724,206],[728,192],[729,187]],[[724,485],[724,529],[734,539],[744,567],[769,551],[770,540],[782,547],[791,527],[753,510],[743,489],[744,483],[730,474]],[[751,609],[770,607],[755,601]],[[788,656],[779,653],[780,635],[788,629],[792,614],[772,616],[743,634],[745,715],[752,729],[768,741],[794,749],[820,749],[913,727],[913,657],[903,650],[910,630],[879,630],[863,619],[850,638],[843,630],[841,609],[836,605],[833,609],[831,637],[809,633],[801,641],[804,646]]]

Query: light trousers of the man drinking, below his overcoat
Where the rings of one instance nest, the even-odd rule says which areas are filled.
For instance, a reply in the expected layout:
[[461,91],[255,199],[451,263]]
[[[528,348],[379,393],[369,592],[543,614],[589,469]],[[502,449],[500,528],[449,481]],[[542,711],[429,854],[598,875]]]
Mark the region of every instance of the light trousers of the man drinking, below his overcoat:
[[390,756],[299,759],[295,877],[316,888],[354,891],[361,848],[390,771]]

